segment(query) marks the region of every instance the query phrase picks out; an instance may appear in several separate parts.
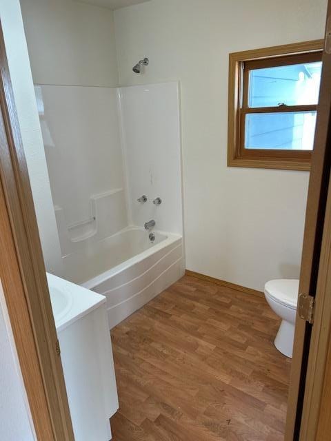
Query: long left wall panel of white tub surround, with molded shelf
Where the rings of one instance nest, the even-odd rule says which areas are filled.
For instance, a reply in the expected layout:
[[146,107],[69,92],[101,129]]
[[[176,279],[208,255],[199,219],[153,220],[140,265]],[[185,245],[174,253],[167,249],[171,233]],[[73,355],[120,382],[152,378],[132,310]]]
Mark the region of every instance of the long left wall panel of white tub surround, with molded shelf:
[[35,85],[62,256],[128,225],[117,90]]

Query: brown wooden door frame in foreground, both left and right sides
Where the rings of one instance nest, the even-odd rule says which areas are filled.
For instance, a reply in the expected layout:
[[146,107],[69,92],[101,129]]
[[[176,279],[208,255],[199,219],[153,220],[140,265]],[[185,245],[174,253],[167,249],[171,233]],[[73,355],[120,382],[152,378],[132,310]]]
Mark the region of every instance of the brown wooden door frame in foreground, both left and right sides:
[[[297,316],[285,441],[310,441],[315,434],[322,440],[323,428],[330,424],[321,407],[325,400],[331,401],[331,380],[326,375],[331,369],[327,365],[331,359],[331,314],[325,317],[331,312],[327,295],[331,289],[330,81],[331,54],[324,50],[299,287],[300,292],[315,296],[316,314],[313,327]],[[74,441],[1,23],[0,228],[0,279],[37,440]],[[301,423],[302,415],[308,418]]]

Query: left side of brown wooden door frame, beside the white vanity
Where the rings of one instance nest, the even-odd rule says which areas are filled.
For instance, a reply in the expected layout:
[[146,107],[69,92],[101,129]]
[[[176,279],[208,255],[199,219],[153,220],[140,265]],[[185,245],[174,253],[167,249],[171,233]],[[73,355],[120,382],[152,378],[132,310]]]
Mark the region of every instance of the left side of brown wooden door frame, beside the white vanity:
[[0,23],[0,279],[37,440],[74,441]]

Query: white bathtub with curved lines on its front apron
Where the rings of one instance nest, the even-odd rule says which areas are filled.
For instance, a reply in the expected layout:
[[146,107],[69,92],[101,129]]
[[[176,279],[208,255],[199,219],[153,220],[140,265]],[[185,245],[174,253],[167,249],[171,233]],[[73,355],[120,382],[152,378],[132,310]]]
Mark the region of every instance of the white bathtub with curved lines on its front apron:
[[183,238],[128,227],[63,256],[66,278],[106,297],[110,329],[183,276]]

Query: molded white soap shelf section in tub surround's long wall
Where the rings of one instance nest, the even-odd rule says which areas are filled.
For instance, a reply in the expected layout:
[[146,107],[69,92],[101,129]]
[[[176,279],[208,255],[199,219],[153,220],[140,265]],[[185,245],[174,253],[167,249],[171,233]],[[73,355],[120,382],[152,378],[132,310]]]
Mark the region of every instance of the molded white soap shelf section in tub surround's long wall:
[[91,240],[97,241],[112,236],[128,226],[126,201],[123,189],[90,197],[90,218],[68,225],[66,209],[54,206],[62,256],[67,256],[83,247]]

